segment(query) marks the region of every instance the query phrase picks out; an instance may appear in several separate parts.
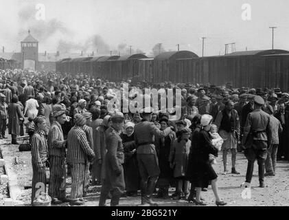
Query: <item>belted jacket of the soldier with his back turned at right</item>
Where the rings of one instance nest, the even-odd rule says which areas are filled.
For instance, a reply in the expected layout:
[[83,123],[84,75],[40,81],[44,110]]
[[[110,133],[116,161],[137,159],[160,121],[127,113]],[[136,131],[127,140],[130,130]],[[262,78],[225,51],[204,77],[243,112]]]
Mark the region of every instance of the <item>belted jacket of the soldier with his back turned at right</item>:
[[249,148],[253,144],[253,140],[259,140],[260,148],[270,146],[272,140],[272,126],[270,123],[270,115],[261,109],[255,109],[248,113],[248,117],[244,126],[244,136],[242,138],[242,145]]

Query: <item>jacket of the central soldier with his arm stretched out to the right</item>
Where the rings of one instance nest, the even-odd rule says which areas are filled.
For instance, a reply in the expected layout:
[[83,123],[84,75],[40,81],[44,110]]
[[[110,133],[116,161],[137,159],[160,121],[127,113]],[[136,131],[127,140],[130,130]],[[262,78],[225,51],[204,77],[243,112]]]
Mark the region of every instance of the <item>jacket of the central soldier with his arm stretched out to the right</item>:
[[135,125],[134,135],[137,153],[157,154],[154,146],[154,136],[165,137],[171,132],[170,128],[159,130],[153,122],[142,120]]

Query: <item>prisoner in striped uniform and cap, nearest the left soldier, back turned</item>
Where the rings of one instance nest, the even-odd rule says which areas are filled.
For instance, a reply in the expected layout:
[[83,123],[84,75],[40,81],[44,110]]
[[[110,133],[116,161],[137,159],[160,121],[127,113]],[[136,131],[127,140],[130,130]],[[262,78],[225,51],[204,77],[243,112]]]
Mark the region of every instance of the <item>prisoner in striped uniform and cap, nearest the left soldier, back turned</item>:
[[82,129],[86,119],[80,113],[76,113],[74,122],[75,126],[67,136],[67,164],[71,166],[71,204],[81,205],[85,201],[82,198],[85,164],[92,161],[95,155]]

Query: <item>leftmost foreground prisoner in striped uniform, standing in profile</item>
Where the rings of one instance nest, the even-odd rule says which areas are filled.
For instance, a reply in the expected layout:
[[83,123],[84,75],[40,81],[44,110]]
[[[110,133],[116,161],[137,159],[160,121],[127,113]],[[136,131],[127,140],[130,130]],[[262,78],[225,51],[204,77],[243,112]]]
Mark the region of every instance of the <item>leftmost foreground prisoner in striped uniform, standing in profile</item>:
[[[43,116],[34,119],[36,131],[31,138],[32,153],[32,197],[31,203],[40,192],[46,192],[46,162],[48,157],[47,141],[45,139],[46,120]],[[39,188],[39,189],[38,189]],[[37,192],[36,192],[37,190]]]

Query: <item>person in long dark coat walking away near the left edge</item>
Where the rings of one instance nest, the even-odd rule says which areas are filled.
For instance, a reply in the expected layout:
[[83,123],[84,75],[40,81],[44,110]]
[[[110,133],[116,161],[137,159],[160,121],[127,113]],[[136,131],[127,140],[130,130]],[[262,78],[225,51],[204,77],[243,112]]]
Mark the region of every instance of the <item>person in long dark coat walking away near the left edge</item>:
[[20,135],[20,123],[24,120],[23,113],[21,111],[18,102],[18,97],[14,96],[12,102],[8,106],[8,131],[12,137],[12,144],[18,144],[16,142],[16,136]]

